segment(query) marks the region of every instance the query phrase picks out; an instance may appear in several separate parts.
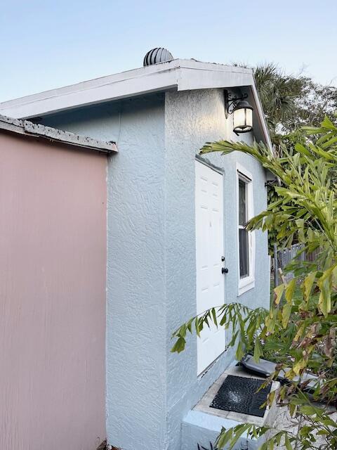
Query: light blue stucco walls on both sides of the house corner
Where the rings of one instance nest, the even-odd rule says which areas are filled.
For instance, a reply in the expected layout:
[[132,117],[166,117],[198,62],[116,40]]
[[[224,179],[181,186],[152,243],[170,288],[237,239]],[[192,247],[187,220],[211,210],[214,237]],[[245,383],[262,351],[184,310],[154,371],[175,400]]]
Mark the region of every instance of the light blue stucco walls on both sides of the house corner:
[[[168,92],[45,117],[44,124],[117,141],[109,160],[107,437],[125,450],[178,450],[181,423],[232,350],[197,377],[197,342],[171,354],[171,333],[196,311],[194,160],[206,141],[237,139],[223,90]],[[252,136],[240,139],[251,142]],[[256,285],[237,297],[236,162],[253,175],[254,212],[265,172],[246,155],[206,158],[223,173],[225,300],[269,301],[267,236],[256,233]]]

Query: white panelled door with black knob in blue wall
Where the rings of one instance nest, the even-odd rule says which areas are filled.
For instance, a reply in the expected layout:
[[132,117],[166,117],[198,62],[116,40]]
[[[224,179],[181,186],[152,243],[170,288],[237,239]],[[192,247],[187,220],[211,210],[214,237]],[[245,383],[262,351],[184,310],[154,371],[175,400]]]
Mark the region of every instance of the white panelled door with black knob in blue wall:
[[[223,262],[223,176],[195,162],[197,314],[225,301]],[[225,329],[211,325],[197,338],[198,375],[225,351]]]

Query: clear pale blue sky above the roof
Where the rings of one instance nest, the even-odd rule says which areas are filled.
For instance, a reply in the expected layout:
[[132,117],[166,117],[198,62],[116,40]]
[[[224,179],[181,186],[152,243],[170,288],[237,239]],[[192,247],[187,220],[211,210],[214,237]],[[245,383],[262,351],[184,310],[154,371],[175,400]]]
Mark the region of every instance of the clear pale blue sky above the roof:
[[337,0],[0,0],[0,101],[174,58],[256,65],[337,86]]

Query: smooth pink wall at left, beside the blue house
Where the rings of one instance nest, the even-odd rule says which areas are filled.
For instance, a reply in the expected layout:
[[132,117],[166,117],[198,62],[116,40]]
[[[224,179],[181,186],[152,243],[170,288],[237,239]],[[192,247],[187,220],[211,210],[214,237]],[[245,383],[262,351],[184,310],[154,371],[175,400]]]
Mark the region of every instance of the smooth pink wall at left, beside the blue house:
[[105,439],[106,157],[0,134],[0,449]]

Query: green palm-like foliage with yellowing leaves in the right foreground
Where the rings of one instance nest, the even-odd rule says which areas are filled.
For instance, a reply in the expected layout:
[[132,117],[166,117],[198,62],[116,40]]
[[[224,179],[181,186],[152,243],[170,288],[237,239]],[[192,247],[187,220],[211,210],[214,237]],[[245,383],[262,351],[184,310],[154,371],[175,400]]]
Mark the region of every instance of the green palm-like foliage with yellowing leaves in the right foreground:
[[[304,131],[308,136],[305,143],[301,139],[291,148],[282,144],[282,158],[263,143],[206,143],[201,153],[227,155],[239,151],[251,155],[275,174],[282,181],[282,186],[276,188],[277,201],[251,219],[247,229],[277,230],[278,237],[286,243],[297,236],[306,252],[319,249],[317,260],[293,262],[295,278],[275,288],[270,311],[233,302],[205,311],[173,333],[176,343],[172,351],[181,352],[188,334],[195,330],[199,335],[204,326],[213,322],[231,329],[230,345],[236,347],[237,359],[253,352],[256,360],[267,356],[277,362],[277,371],[268,381],[286,369],[291,383],[282,386],[278,401],[286,404],[292,415],[303,418],[305,424],[296,435],[289,430],[272,430],[263,450],[280,444],[291,449],[294,443],[299,450],[313,449],[318,439],[322,441],[319,449],[337,449],[336,421],[325,407],[312,404],[305,393],[305,383],[295,380],[305,371],[316,373],[319,378],[314,399],[336,404],[337,187],[331,182],[331,173],[337,164],[337,127],[325,117],[320,127]],[[300,297],[295,295],[296,284],[300,285]],[[269,401],[273,400],[272,395]],[[260,437],[270,428],[244,424],[222,430],[218,447],[234,445],[245,431]]]

